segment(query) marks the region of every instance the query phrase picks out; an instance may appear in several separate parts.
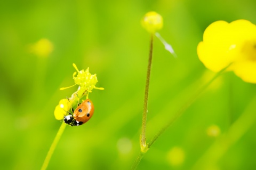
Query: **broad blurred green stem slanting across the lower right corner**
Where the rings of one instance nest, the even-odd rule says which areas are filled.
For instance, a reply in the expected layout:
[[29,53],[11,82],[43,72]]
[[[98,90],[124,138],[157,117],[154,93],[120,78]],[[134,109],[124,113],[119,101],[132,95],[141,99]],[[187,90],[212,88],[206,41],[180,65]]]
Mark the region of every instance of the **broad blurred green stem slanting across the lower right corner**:
[[251,99],[243,113],[234,121],[228,130],[212,143],[203,156],[197,160],[193,168],[190,169],[209,169],[216,167],[219,160],[238,140],[241,140],[254,125],[256,121],[255,114],[256,96]]

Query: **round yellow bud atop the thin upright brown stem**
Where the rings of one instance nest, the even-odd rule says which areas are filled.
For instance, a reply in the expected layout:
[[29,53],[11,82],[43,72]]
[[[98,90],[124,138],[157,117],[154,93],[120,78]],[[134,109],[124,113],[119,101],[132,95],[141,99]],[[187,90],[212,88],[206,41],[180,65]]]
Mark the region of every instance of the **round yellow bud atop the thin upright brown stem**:
[[157,30],[163,27],[163,18],[160,14],[151,11],[146,13],[146,15],[141,20],[142,26],[152,34],[155,34]]

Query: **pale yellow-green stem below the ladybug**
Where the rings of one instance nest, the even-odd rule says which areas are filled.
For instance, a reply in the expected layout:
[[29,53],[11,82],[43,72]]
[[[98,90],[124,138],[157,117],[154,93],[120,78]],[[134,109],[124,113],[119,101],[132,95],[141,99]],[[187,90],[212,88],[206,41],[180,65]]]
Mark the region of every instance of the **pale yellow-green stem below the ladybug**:
[[47,156],[44,160],[44,164],[43,164],[41,170],[45,170],[47,168],[47,166],[49,164],[49,161],[52,157],[52,153],[54,152],[54,150],[55,150],[55,148],[56,148],[56,146],[57,146],[57,144],[60,140],[60,137],[61,137],[62,133],[64,132],[66,126],[67,126],[67,124],[65,122],[62,122],[62,124],[59,128],[59,131],[58,131],[57,135],[55,136],[55,138],[52,142],[51,148],[49,149],[49,151],[47,153]]

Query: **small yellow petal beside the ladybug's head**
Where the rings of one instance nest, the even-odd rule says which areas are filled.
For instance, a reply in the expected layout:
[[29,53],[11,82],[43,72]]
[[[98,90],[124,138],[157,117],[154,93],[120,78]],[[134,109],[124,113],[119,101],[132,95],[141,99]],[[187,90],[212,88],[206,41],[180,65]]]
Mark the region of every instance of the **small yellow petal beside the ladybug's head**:
[[68,99],[61,99],[58,106],[55,107],[54,116],[57,120],[62,120],[67,115],[67,111],[71,108],[71,103]]

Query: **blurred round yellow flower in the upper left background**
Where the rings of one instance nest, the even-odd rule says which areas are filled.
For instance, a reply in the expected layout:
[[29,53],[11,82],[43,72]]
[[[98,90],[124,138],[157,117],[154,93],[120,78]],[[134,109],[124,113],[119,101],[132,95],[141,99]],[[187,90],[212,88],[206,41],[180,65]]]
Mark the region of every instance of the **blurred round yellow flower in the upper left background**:
[[31,45],[30,50],[37,56],[47,57],[53,51],[53,44],[49,41],[49,39],[42,38],[34,45]]

